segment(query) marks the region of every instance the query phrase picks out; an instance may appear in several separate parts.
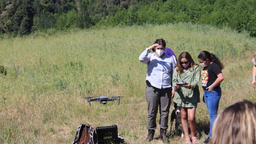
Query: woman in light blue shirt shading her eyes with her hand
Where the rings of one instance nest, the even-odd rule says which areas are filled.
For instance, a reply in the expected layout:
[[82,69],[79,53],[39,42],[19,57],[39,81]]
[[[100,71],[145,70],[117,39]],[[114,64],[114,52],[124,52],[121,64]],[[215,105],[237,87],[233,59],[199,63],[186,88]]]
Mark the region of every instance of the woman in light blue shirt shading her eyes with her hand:
[[[160,109],[160,139],[164,142],[169,142],[166,137],[166,130],[168,129],[167,123],[171,104],[172,74],[176,62],[172,56],[164,53],[165,46],[166,42],[163,39],[157,39],[139,57],[142,63],[147,64],[148,137],[146,141],[148,142],[154,137],[158,106]],[[155,49],[155,52],[151,53],[151,49]]]

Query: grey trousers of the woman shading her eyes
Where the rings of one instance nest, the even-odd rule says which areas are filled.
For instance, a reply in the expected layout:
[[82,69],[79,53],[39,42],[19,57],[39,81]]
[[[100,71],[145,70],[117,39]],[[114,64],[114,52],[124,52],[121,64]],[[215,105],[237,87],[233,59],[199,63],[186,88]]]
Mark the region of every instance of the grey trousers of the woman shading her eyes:
[[172,88],[152,88],[146,87],[146,99],[148,103],[148,129],[156,129],[156,115],[159,106],[160,121],[159,125],[162,129],[168,129],[169,109],[171,105]]

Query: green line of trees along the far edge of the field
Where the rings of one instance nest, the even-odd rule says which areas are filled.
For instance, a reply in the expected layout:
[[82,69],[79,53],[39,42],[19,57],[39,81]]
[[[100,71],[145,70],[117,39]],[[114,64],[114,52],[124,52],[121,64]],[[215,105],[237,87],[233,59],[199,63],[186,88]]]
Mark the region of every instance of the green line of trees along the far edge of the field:
[[192,22],[256,36],[255,0],[0,0],[0,34]]

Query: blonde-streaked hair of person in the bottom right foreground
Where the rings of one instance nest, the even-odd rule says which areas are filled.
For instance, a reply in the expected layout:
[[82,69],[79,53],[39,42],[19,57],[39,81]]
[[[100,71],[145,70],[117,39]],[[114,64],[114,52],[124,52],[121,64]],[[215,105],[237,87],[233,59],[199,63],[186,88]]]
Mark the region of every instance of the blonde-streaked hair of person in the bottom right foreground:
[[256,104],[235,103],[223,109],[216,118],[210,144],[255,144]]

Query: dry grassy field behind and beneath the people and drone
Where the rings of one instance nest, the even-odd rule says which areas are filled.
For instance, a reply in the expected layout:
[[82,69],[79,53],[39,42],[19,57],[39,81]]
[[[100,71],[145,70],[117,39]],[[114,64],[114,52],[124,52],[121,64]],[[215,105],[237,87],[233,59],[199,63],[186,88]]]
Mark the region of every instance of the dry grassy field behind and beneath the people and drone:
[[[176,56],[187,51],[198,64],[202,50],[222,60],[225,80],[219,110],[243,99],[255,102],[250,80],[256,39],[230,29],[180,23],[4,39],[0,65],[7,75],[0,74],[0,143],[71,143],[78,125],[89,123],[95,128],[116,124],[126,143],[146,144],[147,68],[138,57],[159,38]],[[201,86],[200,91],[202,101]],[[124,97],[119,106],[114,101],[90,107],[84,99],[101,95]],[[196,119],[197,137],[203,142],[209,133],[203,102]],[[161,144],[158,136],[159,126],[150,143]],[[170,137],[172,144],[184,140]]]

